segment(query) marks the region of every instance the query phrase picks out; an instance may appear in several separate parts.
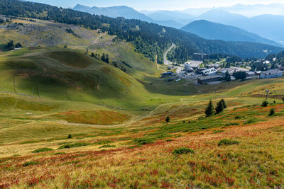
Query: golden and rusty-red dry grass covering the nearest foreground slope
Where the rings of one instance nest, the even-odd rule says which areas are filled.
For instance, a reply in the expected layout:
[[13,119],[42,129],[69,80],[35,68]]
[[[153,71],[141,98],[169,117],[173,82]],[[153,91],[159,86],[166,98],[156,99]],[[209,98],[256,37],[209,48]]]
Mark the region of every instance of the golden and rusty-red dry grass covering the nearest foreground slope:
[[[9,149],[16,146],[30,151],[40,147],[54,150],[2,158],[1,187],[280,188],[284,176],[284,105],[273,107],[282,113],[273,118],[259,115],[258,119],[263,121],[258,123],[242,124],[244,121],[237,120],[240,124],[236,126],[175,132],[141,147],[133,147],[131,141],[143,139],[150,131],[9,144]],[[250,108],[228,110],[221,116],[246,115]],[[254,108],[265,113],[268,109]],[[175,124],[170,126],[175,127]],[[221,139],[233,139],[239,144],[218,146]],[[72,142],[90,145],[56,150],[59,143]],[[172,154],[179,147],[194,149],[195,153]],[[27,162],[30,164],[25,166]]]

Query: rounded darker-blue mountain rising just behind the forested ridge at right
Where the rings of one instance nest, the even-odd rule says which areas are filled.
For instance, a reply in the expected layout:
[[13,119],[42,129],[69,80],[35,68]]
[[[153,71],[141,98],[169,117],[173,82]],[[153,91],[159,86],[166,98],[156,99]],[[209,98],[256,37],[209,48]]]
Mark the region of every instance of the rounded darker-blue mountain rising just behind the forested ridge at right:
[[196,35],[208,40],[259,42],[283,47],[273,40],[261,38],[261,36],[249,33],[246,30],[236,28],[231,25],[213,23],[205,20],[193,21],[192,23],[185,25],[185,27],[181,28],[181,30],[195,33]]

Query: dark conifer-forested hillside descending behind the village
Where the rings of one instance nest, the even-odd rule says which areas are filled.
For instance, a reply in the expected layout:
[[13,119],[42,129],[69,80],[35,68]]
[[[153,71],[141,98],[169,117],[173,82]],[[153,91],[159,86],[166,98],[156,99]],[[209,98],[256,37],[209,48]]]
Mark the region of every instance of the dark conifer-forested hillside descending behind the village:
[[152,61],[155,61],[157,55],[158,63],[163,62],[163,52],[172,42],[177,45],[177,48],[170,54],[170,59],[179,62],[189,59],[195,52],[225,53],[239,57],[266,57],[268,53],[278,53],[282,50],[280,47],[251,42],[204,40],[197,35],[154,23],[96,16],[69,8],[58,8],[26,1],[1,0],[0,14],[101,29],[110,35],[116,35],[115,40],[132,42],[137,52],[143,53]]

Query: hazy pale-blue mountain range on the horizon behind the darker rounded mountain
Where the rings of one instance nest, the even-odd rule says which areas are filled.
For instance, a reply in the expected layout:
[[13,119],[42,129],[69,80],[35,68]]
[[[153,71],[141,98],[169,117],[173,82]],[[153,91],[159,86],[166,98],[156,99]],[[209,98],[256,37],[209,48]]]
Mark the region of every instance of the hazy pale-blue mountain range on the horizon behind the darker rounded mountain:
[[[283,4],[277,4],[277,5],[280,8],[282,8],[283,6]],[[269,12],[269,10],[271,10],[271,8],[275,6],[276,6],[275,4],[269,5],[266,12]],[[247,10],[248,8],[262,10],[264,8],[261,5],[255,5],[255,6],[236,5],[224,8],[191,8],[182,12],[180,11],[138,12],[128,6],[113,6],[113,7],[99,8],[96,6],[88,7],[77,4],[77,6],[75,6],[73,9],[76,11],[84,11],[87,13],[104,15],[112,18],[124,17],[127,19],[138,19],[141,21],[146,21],[148,23],[158,23],[159,25],[165,25],[167,27],[173,27],[173,28],[182,28],[188,23],[191,23],[192,21],[206,20],[214,23],[221,23],[224,25],[235,26],[239,29],[242,29],[241,35],[246,33],[247,37],[253,35],[253,33],[259,35],[259,36],[255,35],[255,37],[253,38],[251,37],[243,38],[244,37],[243,35],[243,37],[240,37],[240,39],[247,39],[248,41],[253,41],[253,42],[266,42],[267,44],[274,44],[274,45],[278,45],[278,43],[284,44],[284,35],[283,35],[284,16],[275,16],[275,15],[266,14],[266,15],[259,15],[249,18],[241,14],[231,13],[229,11],[226,11],[226,10],[231,10],[237,12],[236,10],[238,9],[241,10],[242,7],[243,8],[245,7],[244,10]],[[197,16],[198,13],[200,14],[199,16]],[[236,34],[236,32],[234,33]],[[202,35],[202,33],[196,33],[196,34],[200,35],[201,37],[205,36]],[[209,36],[206,36],[206,38],[207,37]],[[229,39],[228,37],[229,35],[227,35],[226,38],[221,38],[221,39],[232,40],[232,41],[236,39],[234,37]]]

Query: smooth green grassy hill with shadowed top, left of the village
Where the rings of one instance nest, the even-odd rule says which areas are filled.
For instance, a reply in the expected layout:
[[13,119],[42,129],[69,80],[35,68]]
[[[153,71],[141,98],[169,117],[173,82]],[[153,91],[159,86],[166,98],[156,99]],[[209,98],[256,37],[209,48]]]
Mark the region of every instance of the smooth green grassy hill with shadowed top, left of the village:
[[[56,38],[60,39],[60,36],[67,35],[66,28],[75,27],[39,20],[31,22],[16,19],[13,23],[26,24],[27,28],[30,25],[40,25],[42,30],[52,32],[57,28],[52,35],[58,33]],[[20,41],[18,36],[21,30],[10,28],[9,34],[6,29],[3,30],[4,41]],[[29,33],[24,37],[28,41],[28,49],[3,52],[0,62],[4,77],[1,78],[3,85],[0,90],[60,101],[86,101],[131,110],[153,109],[163,102],[160,98],[173,101],[168,95],[186,96],[197,92],[195,86],[186,81],[168,84],[160,79],[162,71],[157,69],[157,65],[142,54],[134,52],[133,46],[127,42],[115,42],[113,36],[97,34],[94,30],[80,27],[74,31],[80,38],[74,39],[75,36],[69,35],[72,38],[66,41],[68,49],[55,43],[52,47],[50,42],[41,41],[39,36],[42,33],[38,33],[38,37]],[[90,37],[86,33],[93,35]],[[33,45],[38,43],[41,44],[40,47],[34,48]],[[85,54],[86,49],[89,51],[88,55]],[[108,54],[110,63],[90,57],[91,53]]]

